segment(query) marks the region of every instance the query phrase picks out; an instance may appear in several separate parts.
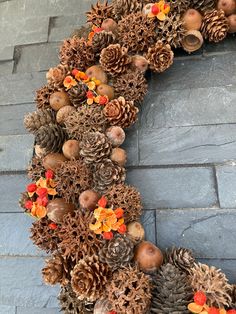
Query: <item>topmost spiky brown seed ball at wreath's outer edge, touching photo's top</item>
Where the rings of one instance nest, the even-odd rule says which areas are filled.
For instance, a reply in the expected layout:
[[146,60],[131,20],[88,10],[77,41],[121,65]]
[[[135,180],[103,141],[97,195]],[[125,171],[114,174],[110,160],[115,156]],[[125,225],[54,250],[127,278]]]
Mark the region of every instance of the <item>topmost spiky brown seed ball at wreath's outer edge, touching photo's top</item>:
[[91,5],[91,10],[86,14],[87,22],[100,27],[105,19],[113,17],[112,5],[108,4],[107,0],[104,3],[98,0],[95,5]]

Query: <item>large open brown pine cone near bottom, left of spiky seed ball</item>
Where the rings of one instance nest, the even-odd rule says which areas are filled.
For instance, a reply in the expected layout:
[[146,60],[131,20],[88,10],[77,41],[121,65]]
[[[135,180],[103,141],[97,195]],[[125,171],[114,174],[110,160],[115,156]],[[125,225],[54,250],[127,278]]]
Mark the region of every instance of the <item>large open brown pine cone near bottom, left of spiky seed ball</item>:
[[86,257],[78,262],[71,273],[71,286],[80,300],[96,301],[105,296],[110,270],[99,262],[98,256]]

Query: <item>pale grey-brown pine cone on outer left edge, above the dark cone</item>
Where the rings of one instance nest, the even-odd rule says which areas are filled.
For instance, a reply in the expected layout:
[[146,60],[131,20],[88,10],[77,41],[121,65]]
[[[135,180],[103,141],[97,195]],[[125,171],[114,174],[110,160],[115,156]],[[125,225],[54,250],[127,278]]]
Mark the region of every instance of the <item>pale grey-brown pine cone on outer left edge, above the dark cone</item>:
[[24,126],[29,132],[36,132],[41,126],[54,123],[55,112],[50,109],[37,110],[28,113],[24,118]]

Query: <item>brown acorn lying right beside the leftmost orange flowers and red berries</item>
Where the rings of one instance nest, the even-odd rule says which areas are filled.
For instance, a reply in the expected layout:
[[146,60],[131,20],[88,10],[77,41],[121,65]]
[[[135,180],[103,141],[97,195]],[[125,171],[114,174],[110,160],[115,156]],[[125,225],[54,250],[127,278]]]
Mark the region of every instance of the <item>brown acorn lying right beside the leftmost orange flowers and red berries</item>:
[[76,209],[74,204],[67,203],[63,198],[56,198],[48,202],[47,216],[56,224],[62,223],[64,215],[73,213]]

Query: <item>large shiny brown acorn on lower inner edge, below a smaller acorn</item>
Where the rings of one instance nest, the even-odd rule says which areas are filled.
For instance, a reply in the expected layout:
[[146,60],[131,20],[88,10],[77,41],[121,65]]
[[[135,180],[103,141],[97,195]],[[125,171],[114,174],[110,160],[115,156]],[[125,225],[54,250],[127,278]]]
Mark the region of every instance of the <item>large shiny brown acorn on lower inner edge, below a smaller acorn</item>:
[[155,272],[163,263],[161,250],[148,241],[142,241],[135,248],[134,261],[146,273]]

